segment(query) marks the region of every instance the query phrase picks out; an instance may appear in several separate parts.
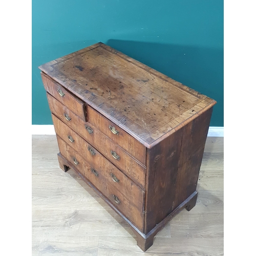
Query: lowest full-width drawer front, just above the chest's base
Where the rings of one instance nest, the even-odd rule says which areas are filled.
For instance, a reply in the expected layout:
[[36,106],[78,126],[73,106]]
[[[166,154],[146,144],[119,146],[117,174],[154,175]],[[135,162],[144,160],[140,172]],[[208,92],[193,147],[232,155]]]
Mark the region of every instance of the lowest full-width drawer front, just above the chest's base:
[[120,191],[105,178],[101,170],[96,169],[81,157],[72,147],[57,136],[60,154],[65,157],[84,177],[108,198],[122,214],[143,232],[142,209],[135,207]]

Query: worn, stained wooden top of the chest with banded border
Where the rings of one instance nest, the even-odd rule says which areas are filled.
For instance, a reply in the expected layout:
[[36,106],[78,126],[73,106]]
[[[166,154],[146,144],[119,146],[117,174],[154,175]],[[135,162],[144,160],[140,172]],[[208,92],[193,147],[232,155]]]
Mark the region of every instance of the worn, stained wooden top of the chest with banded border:
[[102,42],[39,68],[148,148],[216,104]]

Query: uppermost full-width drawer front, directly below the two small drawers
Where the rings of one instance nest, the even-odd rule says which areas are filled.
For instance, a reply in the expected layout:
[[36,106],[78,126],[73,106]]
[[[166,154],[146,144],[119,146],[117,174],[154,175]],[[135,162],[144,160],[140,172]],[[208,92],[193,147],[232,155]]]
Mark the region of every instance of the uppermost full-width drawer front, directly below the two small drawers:
[[[112,163],[118,166],[125,174],[130,176],[136,183],[145,187],[145,168],[136,162],[134,158],[117,146],[108,137],[99,132],[94,126],[82,121],[65,105],[58,102],[51,95],[47,94],[51,112],[57,116],[62,122],[66,123],[82,138],[86,139],[97,150],[108,158]],[[65,116],[66,115],[66,116]],[[68,119],[67,120],[67,115]],[[55,128],[56,130],[56,128]],[[59,129],[61,130],[61,129]],[[115,153],[116,154],[115,154]],[[118,159],[118,157],[120,159]],[[116,157],[116,158],[114,158]]]

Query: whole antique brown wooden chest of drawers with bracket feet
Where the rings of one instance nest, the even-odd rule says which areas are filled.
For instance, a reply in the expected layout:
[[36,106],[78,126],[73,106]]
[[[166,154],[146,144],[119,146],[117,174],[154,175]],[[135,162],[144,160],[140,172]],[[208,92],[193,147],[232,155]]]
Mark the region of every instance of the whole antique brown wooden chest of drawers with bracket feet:
[[101,42],[39,69],[60,168],[75,170],[145,251],[196,204],[216,101]]

